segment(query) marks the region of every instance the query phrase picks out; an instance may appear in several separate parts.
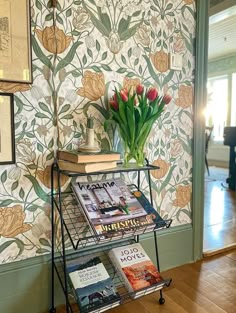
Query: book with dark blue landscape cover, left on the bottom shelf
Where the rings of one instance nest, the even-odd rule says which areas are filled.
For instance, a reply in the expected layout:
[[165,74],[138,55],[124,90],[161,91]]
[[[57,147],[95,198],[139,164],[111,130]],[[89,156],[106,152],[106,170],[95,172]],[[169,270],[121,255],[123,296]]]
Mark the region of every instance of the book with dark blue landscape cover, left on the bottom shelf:
[[103,312],[120,304],[120,295],[99,257],[77,259],[66,268],[81,311]]

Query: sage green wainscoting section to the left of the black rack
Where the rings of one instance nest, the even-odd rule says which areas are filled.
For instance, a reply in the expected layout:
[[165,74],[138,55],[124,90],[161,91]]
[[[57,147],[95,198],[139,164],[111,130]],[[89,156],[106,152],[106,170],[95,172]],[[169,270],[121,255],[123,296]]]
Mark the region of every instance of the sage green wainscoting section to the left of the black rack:
[[[0,312],[44,313],[50,301],[50,257],[34,257],[0,267]],[[63,302],[56,284],[56,302]]]

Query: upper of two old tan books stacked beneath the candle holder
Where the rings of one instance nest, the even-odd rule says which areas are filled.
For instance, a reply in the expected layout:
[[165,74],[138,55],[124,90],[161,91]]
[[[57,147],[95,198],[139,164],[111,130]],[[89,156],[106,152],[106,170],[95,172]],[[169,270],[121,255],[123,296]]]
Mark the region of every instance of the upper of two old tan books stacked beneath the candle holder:
[[70,161],[74,163],[95,163],[95,162],[111,162],[119,161],[120,153],[115,151],[101,151],[101,152],[79,152],[76,150],[66,151],[58,150],[57,158],[59,160]]

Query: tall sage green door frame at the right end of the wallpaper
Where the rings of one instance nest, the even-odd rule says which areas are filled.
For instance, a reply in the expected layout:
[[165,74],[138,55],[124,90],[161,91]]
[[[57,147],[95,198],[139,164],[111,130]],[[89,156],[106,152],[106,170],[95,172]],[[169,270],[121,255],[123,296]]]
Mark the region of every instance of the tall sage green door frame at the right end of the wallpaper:
[[196,0],[196,72],[193,121],[193,259],[203,254],[204,228],[204,172],[205,172],[205,120],[203,111],[207,99],[209,4]]

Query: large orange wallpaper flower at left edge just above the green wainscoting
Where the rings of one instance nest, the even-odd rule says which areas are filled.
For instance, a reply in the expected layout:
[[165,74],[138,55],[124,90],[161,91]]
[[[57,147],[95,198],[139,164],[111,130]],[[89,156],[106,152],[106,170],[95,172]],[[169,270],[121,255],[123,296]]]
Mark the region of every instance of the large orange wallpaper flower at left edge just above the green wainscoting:
[[30,224],[24,223],[25,212],[21,205],[0,208],[0,236],[14,238],[31,229]]

